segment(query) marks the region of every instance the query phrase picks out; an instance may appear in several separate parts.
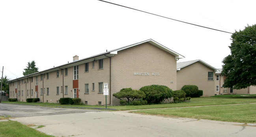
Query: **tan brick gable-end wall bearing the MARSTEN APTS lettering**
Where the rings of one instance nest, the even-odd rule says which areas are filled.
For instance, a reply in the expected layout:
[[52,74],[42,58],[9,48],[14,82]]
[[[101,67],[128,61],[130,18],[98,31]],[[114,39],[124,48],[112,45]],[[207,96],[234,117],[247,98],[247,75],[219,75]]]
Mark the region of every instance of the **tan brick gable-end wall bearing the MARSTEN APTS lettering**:
[[[149,76],[135,76],[134,72],[148,72]],[[159,73],[159,76],[152,76]],[[166,85],[176,90],[175,56],[153,46],[143,43],[121,50],[112,57],[111,94],[122,88],[140,89],[146,85]],[[172,83],[171,83],[172,81]],[[112,105],[119,104],[119,99],[112,96]]]

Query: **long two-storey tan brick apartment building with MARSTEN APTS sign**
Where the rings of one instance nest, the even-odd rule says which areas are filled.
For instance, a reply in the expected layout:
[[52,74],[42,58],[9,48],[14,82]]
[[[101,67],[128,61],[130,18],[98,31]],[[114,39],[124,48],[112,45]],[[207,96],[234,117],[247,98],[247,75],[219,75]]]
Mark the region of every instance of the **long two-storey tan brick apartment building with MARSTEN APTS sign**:
[[58,103],[60,98],[81,98],[84,104],[105,105],[103,84],[108,83],[107,104],[118,105],[112,96],[122,88],[166,85],[176,90],[176,60],[184,56],[152,39],[49,68],[9,81],[10,98],[25,102]]

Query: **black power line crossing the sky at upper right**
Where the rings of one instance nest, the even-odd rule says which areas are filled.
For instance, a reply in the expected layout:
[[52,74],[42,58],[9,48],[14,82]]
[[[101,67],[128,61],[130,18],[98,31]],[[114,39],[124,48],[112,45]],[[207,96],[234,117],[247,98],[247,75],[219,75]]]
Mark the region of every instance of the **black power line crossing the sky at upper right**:
[[[127,7],[127,6],[122,6],[122,5],[119,5],[119,4],[112,3],[112,2],[107,2],[107,1],[104,1],[104,0],[99,0],[99,1],[101,1],[101,2],[106,2],[106,3],[109,3],[109,4],[113,4],[113,5],[116,5],[116,6],[126,7],[126,8],[128,8],[128,9],[133,9],[133,10],[136,10],[136,11],[141,11],[141,12],[148,13],[148,14],[151,14],[151,15],[163,17],[163,18],[166,18],[166,19],[171,19],[171,18],[168,18],[168,17],[164,17],[164,16],[157,15],[157,14],[154,14],[154,13],[149,13],[149,12],[142,11],[142,10],[139,10],[139,9],[134,9],[134,8]],[[196,24],[192,24],[192,23],[189,23],[189,22],[184,22],[184,21],[181,21],[181,20],[176,20],[176,19],[171,19],[171,20],[175,20],[175,21],[178,21],[178,22],[183,22],[183,23],[186,23],[186,24],[191,24],[191,25],[194,25],[194,26],[198,26],[198,27],[202,27],[202,28],[207,28],[207,29],[211,29],[211,30],[221,31],[221,32],[225,32],[225,33],[230,33],[230,34],[235,34],[235,35],[241,35],[241,34],[231,33],[231,32],[228,32],[228,31],[217,30],[217,29],[214,29],[214,28],[209,28],[209,27],[205,27],[205,26],[196,25]],[[241,36],[250,37],[250,36],[247,36],[247,35],[241,35]],[[255,39],[256,39],[256,37],[250,37],[250,38],[255,38]]]

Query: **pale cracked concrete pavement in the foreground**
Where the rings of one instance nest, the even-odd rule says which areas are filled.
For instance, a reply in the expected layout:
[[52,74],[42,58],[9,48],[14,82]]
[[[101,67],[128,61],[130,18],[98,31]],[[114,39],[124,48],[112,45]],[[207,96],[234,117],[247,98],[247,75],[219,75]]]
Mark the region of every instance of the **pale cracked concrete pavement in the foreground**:
[[[75,109],[72,109],[77,111]],[[56,137],[254,137],[256,127],[244,123],[141,115],[127,111],[91,111],[19,117]]]

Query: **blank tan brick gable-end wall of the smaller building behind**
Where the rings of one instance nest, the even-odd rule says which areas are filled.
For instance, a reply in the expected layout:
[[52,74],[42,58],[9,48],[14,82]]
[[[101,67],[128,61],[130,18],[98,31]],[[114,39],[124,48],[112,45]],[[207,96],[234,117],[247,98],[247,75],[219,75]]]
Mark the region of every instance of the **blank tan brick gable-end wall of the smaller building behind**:
[[181,89],[184,85],[196,85],[199,90],[203,90],[203,96],[214,96],[215,77],[209,81],[208,72],[213,72],[215,76],[214,70],[200,62],[181,68],[177,72],[177,89]]

